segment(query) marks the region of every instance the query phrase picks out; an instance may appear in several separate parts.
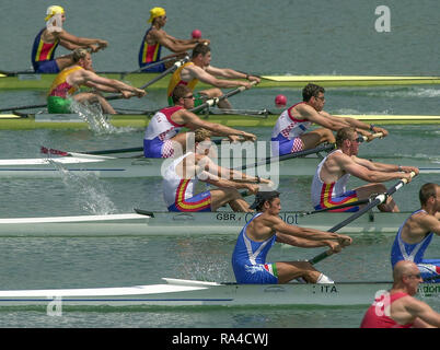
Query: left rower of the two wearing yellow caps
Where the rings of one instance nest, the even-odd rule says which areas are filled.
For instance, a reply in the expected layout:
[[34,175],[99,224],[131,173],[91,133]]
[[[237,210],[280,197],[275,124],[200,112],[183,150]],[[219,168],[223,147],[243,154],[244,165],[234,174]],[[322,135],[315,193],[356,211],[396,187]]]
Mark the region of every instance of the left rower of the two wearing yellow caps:
[[46,14],[46,27],[39,31],[32,47],[32,66],[36,73],[59,73],[66,67],[73,65],[71,54],[55,58],[55,50],[58,45],[68,50],[78,47],[89,48],[92,52],[97,52],[107,47],[106,40],[78,37],[66,32],[62,28],[66,13],[61,7],[48,7]]

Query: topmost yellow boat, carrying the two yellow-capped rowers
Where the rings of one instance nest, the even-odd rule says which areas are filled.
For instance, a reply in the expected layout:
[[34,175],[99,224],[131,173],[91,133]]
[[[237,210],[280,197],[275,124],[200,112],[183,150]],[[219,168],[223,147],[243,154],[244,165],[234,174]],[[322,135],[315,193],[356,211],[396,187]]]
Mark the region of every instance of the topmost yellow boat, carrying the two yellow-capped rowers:
[[[102,77],[123,80],[134,86],[141,86],[157,78],[158,73],[100,72]],[[381,85],[415,85],[440,84],[440,77],[412,75],[262,75],[257,88],[303,88],[315,83],[331,86],[381,86]],[[0,73],[0,89],[49,89],[55,74],[37,74],[34,72]],[[166,89],[167,79],[155,82],[149,89]],[[199,88],[207,88],[204,83]]]

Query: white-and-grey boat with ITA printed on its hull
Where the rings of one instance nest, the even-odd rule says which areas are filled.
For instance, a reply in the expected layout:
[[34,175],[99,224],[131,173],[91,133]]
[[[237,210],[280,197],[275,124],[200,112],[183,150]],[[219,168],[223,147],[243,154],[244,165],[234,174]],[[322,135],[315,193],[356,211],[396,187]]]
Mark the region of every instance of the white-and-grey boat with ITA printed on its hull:
[[[0,291],[0,306],[255,306],[255,305],[369,305],[392,282],[337,282],[335,284],[236,284],[163,278],[160,284],[123,288]],[[422,283],[418,298],[438,299],[440,284]]]

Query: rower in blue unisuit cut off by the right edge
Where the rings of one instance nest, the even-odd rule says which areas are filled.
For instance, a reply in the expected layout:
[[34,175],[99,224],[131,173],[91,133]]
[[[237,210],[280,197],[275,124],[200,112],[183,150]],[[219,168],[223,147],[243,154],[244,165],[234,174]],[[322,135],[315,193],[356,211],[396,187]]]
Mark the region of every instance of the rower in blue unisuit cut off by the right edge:
[[[414,261],[426,279],[440,275],[440,259],[424,259],[433,234],[440,235],[440,186],[432,183],[422,185],[419,200],[421,209],[398,229],[391,248],[391,265],[394,268],[397,261]],[[435,282],[440,282],[440,278]]]

